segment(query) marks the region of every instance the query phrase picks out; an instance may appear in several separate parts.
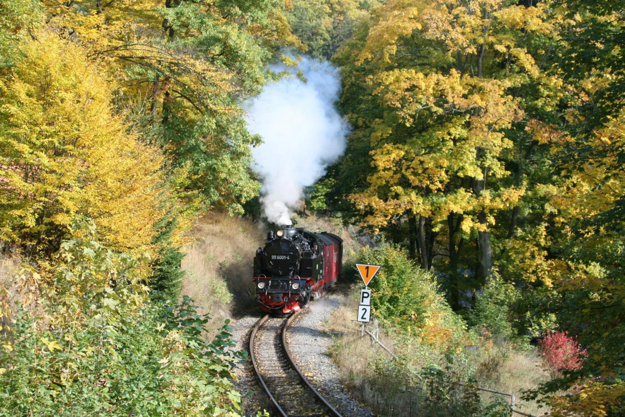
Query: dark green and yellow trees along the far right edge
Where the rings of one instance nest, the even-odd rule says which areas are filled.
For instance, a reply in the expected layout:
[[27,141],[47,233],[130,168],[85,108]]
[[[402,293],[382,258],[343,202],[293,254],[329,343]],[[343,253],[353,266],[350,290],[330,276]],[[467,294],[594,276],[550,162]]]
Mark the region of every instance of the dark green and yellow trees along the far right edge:
[[[554,68],[574,86],[577,100],[550,141],[559,181],[550,187],[556,214],[547,247],[552,259],[542,259],[556,266],[550,275],[561,297],[554,306],[561,327],[578,336],[587,358],[537,392],[556,416],[611,416],[622,414],[625,404],[625,4],[565,3],[574,23],[562,33],[567,48]],[[570,386],[579,389],[558,392]]]

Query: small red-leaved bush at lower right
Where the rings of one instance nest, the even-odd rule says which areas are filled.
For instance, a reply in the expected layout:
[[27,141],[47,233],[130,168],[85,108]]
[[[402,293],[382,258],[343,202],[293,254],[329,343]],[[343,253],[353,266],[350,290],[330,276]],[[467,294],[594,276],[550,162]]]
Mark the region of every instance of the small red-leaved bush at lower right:
[[552,376],[559,371],[574,371],[582,367],[586,358],[586,349],[569,336],[569,332],[554,331],[547,333],[539,342],[541,355]]

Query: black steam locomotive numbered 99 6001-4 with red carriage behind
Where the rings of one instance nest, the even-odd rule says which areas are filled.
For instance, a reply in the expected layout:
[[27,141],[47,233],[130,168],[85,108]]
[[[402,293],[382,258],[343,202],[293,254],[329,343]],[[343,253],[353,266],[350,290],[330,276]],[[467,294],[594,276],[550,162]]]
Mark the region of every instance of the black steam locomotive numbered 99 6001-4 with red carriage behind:
[[291,226],[269,232],[264,249],[258,248],[254,257],[261,309],[289,314],[321,297],[341,274],[342,254],[342,239],[331,233]]

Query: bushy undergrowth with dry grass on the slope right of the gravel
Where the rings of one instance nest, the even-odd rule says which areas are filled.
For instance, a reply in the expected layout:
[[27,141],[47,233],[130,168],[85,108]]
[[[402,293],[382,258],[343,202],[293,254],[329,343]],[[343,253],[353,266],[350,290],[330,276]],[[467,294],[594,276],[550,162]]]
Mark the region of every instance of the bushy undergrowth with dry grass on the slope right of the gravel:
[[[511,334],[493,335],[489,329],[496,328],[496,322],[469,327],[459,316],[445,319],[455,314],[441,300],[434,277],[415,272],[417,266],[406,254],[392,247],[378,248],[380,253],[374,255],[371,249],[364,251],[358,259],[374,264],[391,259],[394,266],[400,266],[379,272],[374,281],[383,282],[371,282],[374,319],[365,326],[392,354],[368,334],[361,337],[356,311],[362,282],[357,282],[357,272],[350,265],[346,265],[344,279],[352,282],[351,289],[323,324],[324,330],[340,334],[331,348],[332,359],[341,369],[343,383],[361,401],[387,416],[509,415],[509,397],[478,391],[480,387],[514,394],[515,409],[524,413],[548,413],[549,408],[522,399],[524,391],[549,380],[539,349],[527,340],[509,339]],[[389,274],[397,274],[390,286]],[[380,292],[404,294],[396,302],[406,303],[401,307],[407,309],[405,315],[381,308],[387,301],[376,299]],[[417,295],[412,298],[414,304],[409,302],[411,292]],[[422,319],[415,322],[417,314]],[[408,327],[402,320],[412,324]]]

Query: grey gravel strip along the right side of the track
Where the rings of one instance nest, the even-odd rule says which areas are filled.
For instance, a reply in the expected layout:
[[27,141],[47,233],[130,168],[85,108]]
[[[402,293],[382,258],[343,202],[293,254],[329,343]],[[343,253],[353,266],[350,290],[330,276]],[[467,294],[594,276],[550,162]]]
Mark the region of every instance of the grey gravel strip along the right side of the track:
[[339,369],[327,351],[332,344],[332,334],[319,330],[341,301],[338,294],[324,294],[324,298],[309,304],[307,311],[297,317],[287,332],[287,343],[299,369],[344,417],[372,417],[370,409],[354,399],[341,384]]

